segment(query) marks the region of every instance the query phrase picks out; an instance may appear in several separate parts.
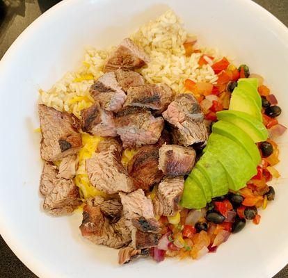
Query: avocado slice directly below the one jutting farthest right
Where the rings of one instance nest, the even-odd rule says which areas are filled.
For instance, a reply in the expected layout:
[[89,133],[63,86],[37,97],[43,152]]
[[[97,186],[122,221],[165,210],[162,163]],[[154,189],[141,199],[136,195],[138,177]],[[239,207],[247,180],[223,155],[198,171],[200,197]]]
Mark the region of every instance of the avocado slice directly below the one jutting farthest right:
[[248,136],[248,134],[238,126],[231,124],[230,122],[220,120],[213,124],[212,132],[237,142],[238,145],[246,150],[247,154],[250,156],[250,158],[252,158],[256,165],[260,163],[261,156],[255,142],[253,142],[250,136]]

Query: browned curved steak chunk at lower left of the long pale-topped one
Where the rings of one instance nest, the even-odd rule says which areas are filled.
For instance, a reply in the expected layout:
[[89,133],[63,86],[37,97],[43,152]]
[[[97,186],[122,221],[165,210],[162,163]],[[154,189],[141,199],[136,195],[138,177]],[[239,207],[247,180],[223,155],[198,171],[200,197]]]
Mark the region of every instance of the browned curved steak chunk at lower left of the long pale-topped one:
[[131,242],[131,232],[125,226],[125,218],[118,222],[110,222],[102,212],[100,204],[88,202],[83,207],[83,221],[80,226],[82,236],[95,244],[121,248]]

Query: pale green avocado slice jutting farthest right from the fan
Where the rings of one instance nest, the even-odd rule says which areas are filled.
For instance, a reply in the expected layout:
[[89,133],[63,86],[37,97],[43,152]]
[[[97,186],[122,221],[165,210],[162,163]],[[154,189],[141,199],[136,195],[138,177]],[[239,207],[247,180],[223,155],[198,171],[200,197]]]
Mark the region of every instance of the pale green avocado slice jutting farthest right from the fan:
[[240,111],[225,110],[216,113],[218,120],[230,122],[245,131],[254,142],[265,141],[268,131],[264,124],[255,117]]

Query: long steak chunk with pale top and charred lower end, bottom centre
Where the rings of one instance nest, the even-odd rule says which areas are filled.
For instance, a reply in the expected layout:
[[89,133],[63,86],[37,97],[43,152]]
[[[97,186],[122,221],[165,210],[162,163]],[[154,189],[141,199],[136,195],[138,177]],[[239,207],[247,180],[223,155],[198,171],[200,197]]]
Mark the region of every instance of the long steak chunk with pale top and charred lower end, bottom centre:
[[131,231],[131,246],[135,249],[156,246],[160,235],[159,224],[154,219],[151,199],[142,189],[132,193],[119,193],[126,218],[126,225]]

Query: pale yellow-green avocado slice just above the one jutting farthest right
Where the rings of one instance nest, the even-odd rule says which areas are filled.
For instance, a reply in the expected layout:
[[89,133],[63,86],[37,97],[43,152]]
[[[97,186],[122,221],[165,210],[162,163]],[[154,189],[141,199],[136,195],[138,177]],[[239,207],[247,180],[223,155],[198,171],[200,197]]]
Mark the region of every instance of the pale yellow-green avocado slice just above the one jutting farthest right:
[[256,101],[238,87],[232,92],[229,110],[245,112],[262,121],[261,110],[257,106]]

